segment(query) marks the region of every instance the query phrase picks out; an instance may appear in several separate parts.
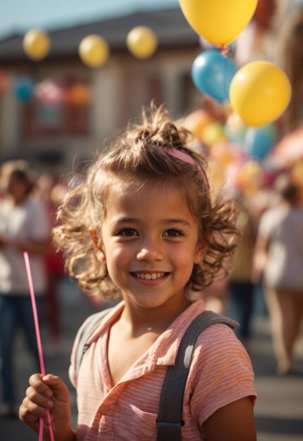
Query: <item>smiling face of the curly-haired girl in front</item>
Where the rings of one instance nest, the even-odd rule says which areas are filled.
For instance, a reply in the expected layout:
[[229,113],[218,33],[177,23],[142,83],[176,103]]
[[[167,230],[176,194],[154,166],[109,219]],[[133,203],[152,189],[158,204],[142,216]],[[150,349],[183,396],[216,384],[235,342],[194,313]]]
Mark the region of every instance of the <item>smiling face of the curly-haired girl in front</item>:
[[173,185],[116,181],[97,256],[126,302],[144,308],[184,302],[194,263],[204,255],[199,225]]

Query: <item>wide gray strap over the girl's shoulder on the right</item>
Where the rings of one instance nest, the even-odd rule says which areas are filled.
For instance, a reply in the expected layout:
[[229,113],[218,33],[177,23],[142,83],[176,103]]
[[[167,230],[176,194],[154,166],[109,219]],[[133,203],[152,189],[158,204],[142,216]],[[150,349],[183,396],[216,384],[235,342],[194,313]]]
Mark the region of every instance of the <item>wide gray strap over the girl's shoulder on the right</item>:
[[212,311],[204,311],[194,318],[180,342],[174,366],[169,366],[161,390],[157,419],[157,441],[181,441],[183,395],[190,371],[194,344],[209,325],[223,323],[237,328],[238,323]]

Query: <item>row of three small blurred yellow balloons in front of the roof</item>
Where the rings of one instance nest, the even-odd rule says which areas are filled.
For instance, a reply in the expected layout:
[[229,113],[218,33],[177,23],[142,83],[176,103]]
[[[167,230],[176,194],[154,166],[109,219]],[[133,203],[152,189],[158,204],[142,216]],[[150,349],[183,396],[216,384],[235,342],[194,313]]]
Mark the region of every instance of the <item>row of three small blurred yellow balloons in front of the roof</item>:
[[[141,59],[149,58],[158,46],[158,39],[152,29],[147,26],[134,27],[126,37],[126,45],[130,53]],[[23,38],[23,50],[34,61],[42,61],[49,55],[51,39],[47,32],[32,29]],[[99,68],[109,59],[110,48],[106,39],[100,35],[87,35],[78,48],[80,59],[89,68]]]

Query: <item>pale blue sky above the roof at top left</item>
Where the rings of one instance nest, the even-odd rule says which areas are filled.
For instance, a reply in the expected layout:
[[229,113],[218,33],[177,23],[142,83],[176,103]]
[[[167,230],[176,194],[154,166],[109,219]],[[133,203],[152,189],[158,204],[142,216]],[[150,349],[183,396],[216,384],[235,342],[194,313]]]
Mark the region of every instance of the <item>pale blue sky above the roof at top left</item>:
[[178,0],[0,0],[0,37],[53,30],[121,13],[178,6]]

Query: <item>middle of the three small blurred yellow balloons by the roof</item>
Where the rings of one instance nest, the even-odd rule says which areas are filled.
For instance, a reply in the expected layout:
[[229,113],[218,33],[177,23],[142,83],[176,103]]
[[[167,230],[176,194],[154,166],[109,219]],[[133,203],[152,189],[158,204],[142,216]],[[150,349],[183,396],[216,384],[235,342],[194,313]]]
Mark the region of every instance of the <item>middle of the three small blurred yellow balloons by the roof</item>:
[[109,44],[100,35],[87,35],[80,42],[79,56],[89,68],[99,68],[109,58]]

